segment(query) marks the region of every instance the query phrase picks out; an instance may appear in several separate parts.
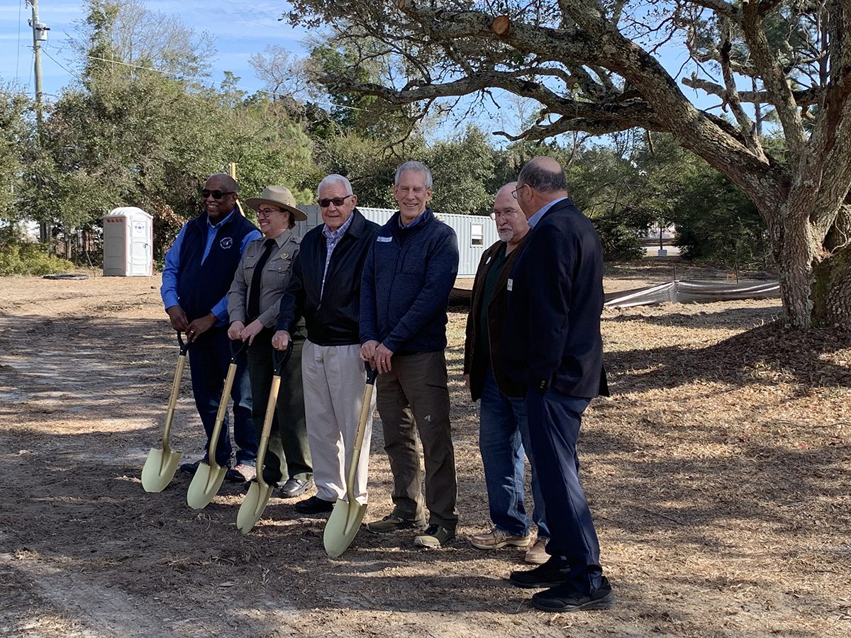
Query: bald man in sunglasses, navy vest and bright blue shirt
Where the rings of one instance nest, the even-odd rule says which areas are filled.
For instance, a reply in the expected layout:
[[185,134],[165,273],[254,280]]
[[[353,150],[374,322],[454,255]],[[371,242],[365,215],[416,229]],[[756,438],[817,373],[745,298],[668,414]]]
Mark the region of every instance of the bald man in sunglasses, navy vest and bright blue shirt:
[[[160,294],[172,328],[186,333],[191,343],[189,361],[192,394],[207,432],[213,433],[222,379],[231,360],[227,337],[227,292],[248,243],[260,231],[237,209],[237,182],[230,175],[210,175],[201,191],[204,212],[180,229],[165,256]],[[257,462],[257,436],[251,419],[251,388],[244,359],[233,381],[233,438],[237,464]],[[207,462],[204,454],[203,461]],[[201,460],[180,470],[193,475]],[[231,466],[231,438],[226,417],[216,446],[216,463]]]

